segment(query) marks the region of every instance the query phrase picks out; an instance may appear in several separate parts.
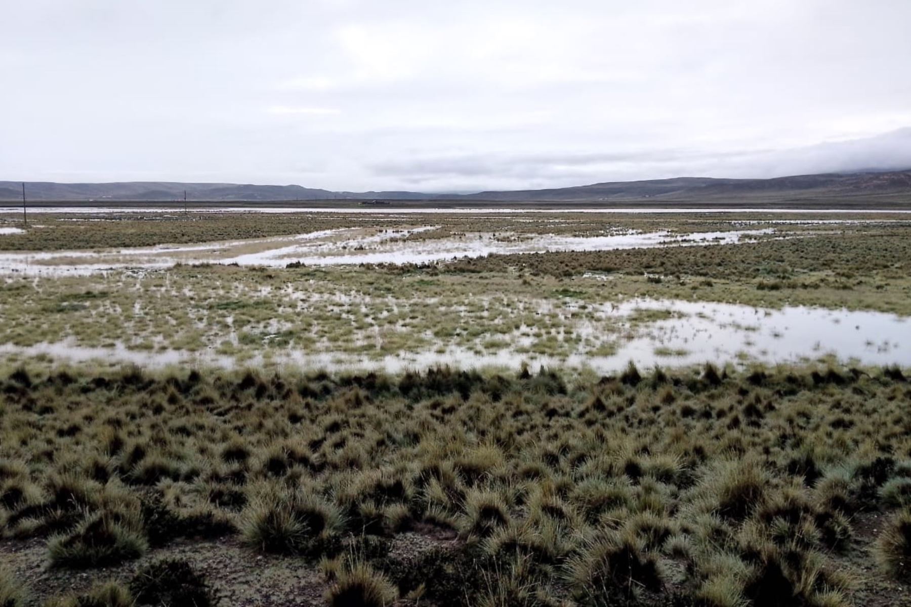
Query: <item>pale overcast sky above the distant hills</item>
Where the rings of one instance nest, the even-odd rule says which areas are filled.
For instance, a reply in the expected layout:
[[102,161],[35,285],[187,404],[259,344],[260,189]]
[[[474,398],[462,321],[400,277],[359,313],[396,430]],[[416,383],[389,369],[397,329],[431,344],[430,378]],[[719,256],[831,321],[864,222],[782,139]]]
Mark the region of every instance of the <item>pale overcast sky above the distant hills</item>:
[[909,0],[0,0],[0,179],[911,167]]

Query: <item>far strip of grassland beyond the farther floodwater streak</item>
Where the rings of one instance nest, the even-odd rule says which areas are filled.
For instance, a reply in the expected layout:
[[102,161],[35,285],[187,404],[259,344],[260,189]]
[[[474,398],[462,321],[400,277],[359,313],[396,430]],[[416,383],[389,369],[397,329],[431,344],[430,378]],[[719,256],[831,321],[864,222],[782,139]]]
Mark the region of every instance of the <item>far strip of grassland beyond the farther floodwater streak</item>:
[[[681,214],[635,215],[592,214],[585,212],[540,212],[504,214],[484,212],[472,214],[402,214],[394,212],[363,213],[240,213],[194,212],[172,213],[136,212],[98,214],[43,213],[33,217],[30,227],[23,234],[0,238],[0,250],[47,251],[65,249],[93,249],[119,247],[150,247],[161,244],[187,244],[234,240],[241,238],[267,238],[334,229],[369,226],[396,227],[424,222],[434,225],[433,231],[415,234],[413,239],[445,238],[479,231],[498,234],[516,234],[531,237],[537,234],[563,234],[574,236],[600,235],[609,228],[640,229],[642,231],[670,230],[677,233],[725,231],[738,226],[768,228],[785,225],[789,230],[802,232],[854,232],[906,228],[906,213],[838,214],[837,216],[814,213],[718,213],[696,216]],[[864,221],[873,224],[827,223],[837,221]],[[785,222],[782,224],[782,222]],[[0,214],[0,227],[22,228],[17,214]]]

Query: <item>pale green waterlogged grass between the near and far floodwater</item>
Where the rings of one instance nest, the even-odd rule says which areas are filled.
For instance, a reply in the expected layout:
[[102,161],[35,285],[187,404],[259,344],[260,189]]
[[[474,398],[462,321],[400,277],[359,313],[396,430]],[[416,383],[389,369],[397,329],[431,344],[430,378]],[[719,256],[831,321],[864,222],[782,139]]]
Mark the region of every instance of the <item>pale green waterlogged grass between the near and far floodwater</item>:
[[[522,238],[534,238],[535,232],[521,230],[548,228],[537,218],[501,220],[511,222]],[[115,241],[132,233],[133,228],[110,221],[109,228],[91,225]],[[335,219],[323,221],[320,227],[337,225]],[[554,229],[589,229],[588,223],[567,221]],[[630,221],[630,226],[609,228],[656,228],[644,225],[654,219]],[[671,225],[684,231],[698,223],[681,219]],[[713,219],[699,225],[737,227]],[[143,355],[189,352],[266,367],[308,354],[321,355],[320,364],[332,368],[336,360],[378,364],[403,353],[420,359],[455,352],[455,359],[505,350],[513,359],[565,362],[579,355],[609,355],[637,328],[671,311],[620,319],[609,313],[631,298],[911,315],[906,261],[911,238],[905,224],[843,225],[824,234],[817,228],[790,227],[787,238],[736,246],[492,255],[421,265],[205,264],[87,276],[10,274],[0,283],[6,320],[0,324],[0,344],[60,344],[64,351],[117,347]],[[406,240],[433,235],[430,230]],[[18,237],[0,238],[0,244],[6,238]],[[208,238],[208,232],[196,238]]]

